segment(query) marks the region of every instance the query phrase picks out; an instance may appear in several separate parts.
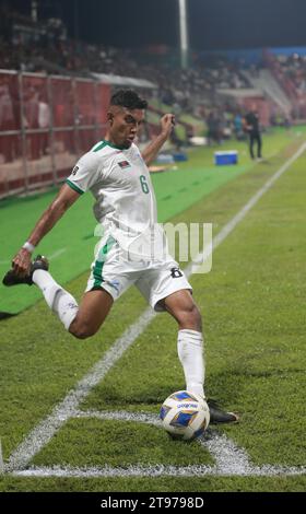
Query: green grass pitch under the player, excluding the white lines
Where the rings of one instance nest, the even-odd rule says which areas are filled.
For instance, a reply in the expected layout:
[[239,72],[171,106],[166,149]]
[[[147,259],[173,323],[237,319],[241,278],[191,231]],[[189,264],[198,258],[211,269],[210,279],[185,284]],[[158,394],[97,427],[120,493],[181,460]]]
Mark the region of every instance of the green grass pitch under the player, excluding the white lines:
[[[168,183],[163,184],[166,174],[154,177],[162,219],[176,223],[212,222],[217,234],[293,155],[305,138],[301,132],[299,137],[284,131],[266,137],[264,150],[271,154],[267,162],[250,164],[248,156],[243,155],[242,168],[236,173],[222,170],[222,178],[221,174],[219,178],[211,177],[211,150],[191,152],[189,164],[197,177],[186,179],[189,192],[183,195],[186,203],[180,209],[177,195],[167,190]],[[228,148],[233,144],[229,142]],[[198,184],[197,194],[196,189],[192,194],[192,182],[201,180],[201,163],[210,178]],[[260,469],[305,466],[305,165],[304,153],[215,249],[212,271],[191,278],[204,319],[207,394],[240,414],[238,424],[214,427],[211,432],[232,441]],[[179,170],[178,188],[184,187],[183,171],[187,174],[187,166]],[[174,200],[162,199],[169,195]],[[35,201],[42,207],[45,200],[46,196]],[[87,205],[82,208],[81,201],[80,211],[87,215]],[[17,212],[24,205],[10,202],[2,211],[13,212],[15,208]],[[82,213],[78,214],[80,219]],[[22,220],[22,230],[25,225],[27,222]],[[91,226],[92,220],[80,230],[90,234]],[[8,226],[3,231],[9,231]],[[10,252],[17,237],[15,234],[14,242],[8,245]],[[95,240],[83,241],[83,249],[92,252]],[[52,243],[46,242],[46,248],[50,245],[56,250],[61,243],[59,230]],[[87,272],[81,273],[85,269],[81,258],[75,268],[78,272],[70,274],[66,288],[80,299]],[[64,278],[67,269],[63,256],[55,259],[56,278],[58,271]],[[20,296],[30,293],[30,288],[16,289]],[[13,302],[10,297],[12,312]],[[19,316],[0,323],[0,437],[4,463],[146,308],[138,291],[131,289],[115,304],[95,337],[78,341],[62,329],[44,301],[33,302],[35,299]],[[1,289],[1,309],[4,305]],[[214,458],[207,446],[170,441],[160,428],[132,418],[139,413],[157,414],[164,398],[184,387],[176,331],[168,315],[157,315],[79,406],[82,412],[125,412],[130,419],[72,417],[30,465],[61,469],[108,466],[122,470],[149,466],[213,467]],[[123,474],[104,478],[5,474],[0,478],[0,491],[259,492],[304,491],[305,487],[305,475],[281,472],[190,477]]]

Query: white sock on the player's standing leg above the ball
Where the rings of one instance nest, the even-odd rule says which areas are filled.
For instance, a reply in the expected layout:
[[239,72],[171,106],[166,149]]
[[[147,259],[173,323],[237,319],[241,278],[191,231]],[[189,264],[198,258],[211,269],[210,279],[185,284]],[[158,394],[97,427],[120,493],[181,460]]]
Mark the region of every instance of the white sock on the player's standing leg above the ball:
[[203,336],[197,330],[178,331],[177,352],[184,369],[186,389],[204,397]]

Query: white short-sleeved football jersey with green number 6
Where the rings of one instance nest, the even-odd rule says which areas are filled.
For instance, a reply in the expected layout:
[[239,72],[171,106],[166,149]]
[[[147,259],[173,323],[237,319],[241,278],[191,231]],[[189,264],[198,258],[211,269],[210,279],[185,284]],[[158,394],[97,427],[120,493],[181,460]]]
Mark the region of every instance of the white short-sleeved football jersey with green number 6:
[[66,183],[81,195],[91,190],[96,220],[123,248],[156,226],[150,172],[133,143],[122,150],[101,141],[79,160]]

